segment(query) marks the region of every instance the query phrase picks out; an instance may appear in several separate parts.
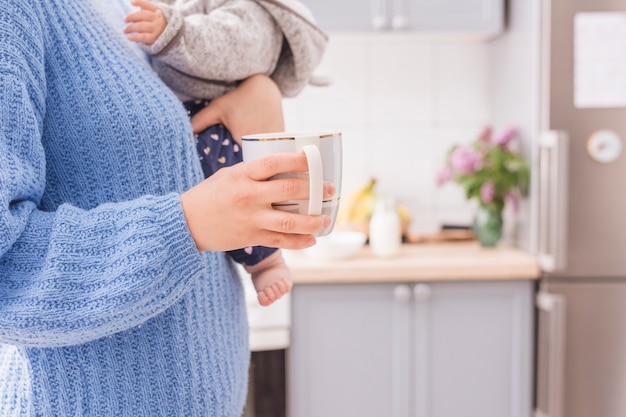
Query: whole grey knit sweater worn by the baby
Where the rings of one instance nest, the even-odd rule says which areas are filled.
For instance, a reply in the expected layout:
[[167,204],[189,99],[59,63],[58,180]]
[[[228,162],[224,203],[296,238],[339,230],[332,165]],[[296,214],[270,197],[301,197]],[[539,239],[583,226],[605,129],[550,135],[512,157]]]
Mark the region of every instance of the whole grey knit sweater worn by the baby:
[[168,25],[151,45],[161,79],[182,99],[218,97],[254,75],[284,96],[309,82],[328,38],[297,0],[162,0]]

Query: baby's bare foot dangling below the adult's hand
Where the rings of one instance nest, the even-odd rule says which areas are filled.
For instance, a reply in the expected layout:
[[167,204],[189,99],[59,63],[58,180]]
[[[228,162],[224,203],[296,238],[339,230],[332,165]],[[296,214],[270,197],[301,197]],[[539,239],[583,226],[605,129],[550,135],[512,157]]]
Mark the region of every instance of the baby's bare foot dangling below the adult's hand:
[[291,290],[293,279],[285,260],[277,250],[256,265],[244,266],[252,275],[259,304],[268,306]]

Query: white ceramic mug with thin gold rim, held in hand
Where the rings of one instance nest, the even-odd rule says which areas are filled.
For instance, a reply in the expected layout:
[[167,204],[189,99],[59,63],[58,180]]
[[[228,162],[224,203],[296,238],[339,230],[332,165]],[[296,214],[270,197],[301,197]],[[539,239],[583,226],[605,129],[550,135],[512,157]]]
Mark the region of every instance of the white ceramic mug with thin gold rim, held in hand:
[[[243,160],[247,162],[275,153],[304,152],[309,165],[308,172],[281,174],[275,178],[309,178],[309,199],[280,201],[272,206],[291,213],[325,214],[331,218],[331,224],[317,236],[329,234],[335,225],[341,196],[341,133],[261,133],[245,135],[241,140]],[[335,195],[329,199],[323,198],[324,181],[331,182],[337,188]]]

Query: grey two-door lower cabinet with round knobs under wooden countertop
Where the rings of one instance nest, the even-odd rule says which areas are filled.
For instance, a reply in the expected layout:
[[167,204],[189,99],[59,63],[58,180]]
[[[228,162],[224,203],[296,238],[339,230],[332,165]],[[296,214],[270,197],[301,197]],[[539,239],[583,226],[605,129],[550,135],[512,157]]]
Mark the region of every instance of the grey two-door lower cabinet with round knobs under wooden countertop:
[[530,417],[534,281],[296,285],[290,417]]

